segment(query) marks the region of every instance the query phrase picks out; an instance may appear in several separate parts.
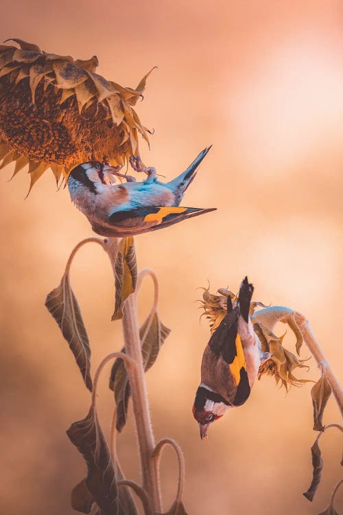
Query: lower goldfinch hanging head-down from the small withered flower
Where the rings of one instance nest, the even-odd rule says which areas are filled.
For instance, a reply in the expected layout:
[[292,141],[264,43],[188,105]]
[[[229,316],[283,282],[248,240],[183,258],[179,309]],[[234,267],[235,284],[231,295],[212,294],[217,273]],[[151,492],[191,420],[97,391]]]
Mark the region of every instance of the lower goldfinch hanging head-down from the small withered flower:
[[245,277],[237,306],[233,308],[229,296],[227,314],[204,350],[201,383],[193,404],[201,439],[207,437],[212,422],[246,402],[261,362],[270,357],[261,353],[261,343],[252,329],[249,309],[253,290]]

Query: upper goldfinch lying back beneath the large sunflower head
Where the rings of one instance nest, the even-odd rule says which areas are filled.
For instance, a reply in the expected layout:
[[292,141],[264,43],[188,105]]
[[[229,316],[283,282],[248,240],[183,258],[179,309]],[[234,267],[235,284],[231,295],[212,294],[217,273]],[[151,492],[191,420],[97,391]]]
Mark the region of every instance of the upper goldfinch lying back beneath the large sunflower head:
[[[132,157],[130,163],[137,172],[147,173],[143,182],[119,174],[118,167],[97,161],[83,163],[71,170],[68,177],[71,201],[101,236],[134,236],[208,213],[215,208],[180,207],[180,202],[210,148],[205,148],[185,172],[168,183],[157,180],[154,168],[143,168],[140,157]],[[124,177],[128,182],[108,184],[106,178],[111,175]]]

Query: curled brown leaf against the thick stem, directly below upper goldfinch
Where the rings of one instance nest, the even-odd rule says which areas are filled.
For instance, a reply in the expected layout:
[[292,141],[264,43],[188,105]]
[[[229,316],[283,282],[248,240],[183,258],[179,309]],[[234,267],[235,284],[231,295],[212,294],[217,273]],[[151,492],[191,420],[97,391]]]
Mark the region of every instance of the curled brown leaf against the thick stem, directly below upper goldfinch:
[[115,261],[115,312],[112,320],[123,318],[123,302],[137,286],[137,260],[132,236],[121,238]]

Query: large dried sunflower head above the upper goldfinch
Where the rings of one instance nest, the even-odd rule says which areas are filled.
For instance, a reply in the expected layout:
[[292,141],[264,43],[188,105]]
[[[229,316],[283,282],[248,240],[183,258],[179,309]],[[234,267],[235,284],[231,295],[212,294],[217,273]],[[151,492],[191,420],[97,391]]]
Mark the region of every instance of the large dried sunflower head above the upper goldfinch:
[[51,168],[56,177],[85,161],[122,165],[148,130],[133,106],[145,88],[124,88],[95,73],[97,57],[74,60],[13,39],[0,45],[0,168],[29,165],[31,187]]

